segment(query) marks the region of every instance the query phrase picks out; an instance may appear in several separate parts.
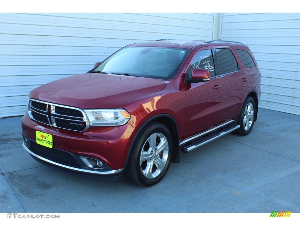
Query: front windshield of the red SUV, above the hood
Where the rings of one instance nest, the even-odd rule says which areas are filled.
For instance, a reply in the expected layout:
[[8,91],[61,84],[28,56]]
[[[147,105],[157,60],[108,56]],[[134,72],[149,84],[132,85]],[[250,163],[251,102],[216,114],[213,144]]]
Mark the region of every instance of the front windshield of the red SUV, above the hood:
[[90,72],[172,79],[188,53],[190,49],[126,47],[111,55]]

